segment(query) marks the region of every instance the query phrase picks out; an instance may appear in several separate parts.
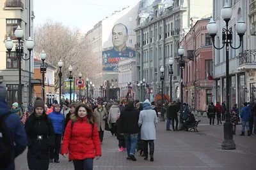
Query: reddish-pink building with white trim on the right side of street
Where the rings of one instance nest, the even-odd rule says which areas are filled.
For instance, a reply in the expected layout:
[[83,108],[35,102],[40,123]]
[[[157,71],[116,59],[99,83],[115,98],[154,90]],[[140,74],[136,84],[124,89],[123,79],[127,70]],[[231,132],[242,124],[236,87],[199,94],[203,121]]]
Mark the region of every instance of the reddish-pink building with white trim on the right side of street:
[[196,110],[205,110],[213,98],[212,41],[206,25],[210,18],[196,22],[191,19],[191,29],[184,35],[181,45],[185,50],[186,65],[183,70],[183,100]]

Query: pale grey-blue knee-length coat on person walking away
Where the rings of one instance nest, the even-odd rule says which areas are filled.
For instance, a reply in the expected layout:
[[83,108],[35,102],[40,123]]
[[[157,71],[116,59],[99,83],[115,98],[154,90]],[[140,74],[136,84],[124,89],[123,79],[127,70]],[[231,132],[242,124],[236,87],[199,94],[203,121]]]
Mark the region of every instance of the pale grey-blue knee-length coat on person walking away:
[[139,126],[141,125],[141,139],[154,140],[156,139],[156,124],[157,117],[155,110],[140,111]]

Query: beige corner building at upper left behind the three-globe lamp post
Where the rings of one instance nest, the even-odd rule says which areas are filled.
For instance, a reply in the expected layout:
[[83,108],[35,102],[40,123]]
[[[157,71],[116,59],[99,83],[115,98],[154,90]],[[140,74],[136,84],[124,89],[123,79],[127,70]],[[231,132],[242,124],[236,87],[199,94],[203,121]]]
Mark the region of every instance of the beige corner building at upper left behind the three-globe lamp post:
[[[26,39],[31,36],[33,39],[33,0],[0,0],[0,37],[5,41],[8,36],[13,40],[13,50],[11,57],[8,56],[4,41],[0,43],[0,83],[6,85],[8,94],[8,104],[18,101],[19,86],[19,67],[22,68],[22,103],[28,106],[29,97],[33,101],[33,85],[36,83],[33,74],[33,57],[31,60],[22,60],[21,66],[15,59],[15,45],[18,41],[15,39],[15,29],[20,25],[24,31],[24,38],[21,43],[24,46],[25,59],[28,59],[29,52],[26,48]],[[33,54],[33,51],[32,51]],[[29,85],[29,61],[31,68],[31,85]],[[31,90],[29,90],[29,87]],[[30,91],[30,93],[29,93]],[[31,95],[29,95],[31,94]]]

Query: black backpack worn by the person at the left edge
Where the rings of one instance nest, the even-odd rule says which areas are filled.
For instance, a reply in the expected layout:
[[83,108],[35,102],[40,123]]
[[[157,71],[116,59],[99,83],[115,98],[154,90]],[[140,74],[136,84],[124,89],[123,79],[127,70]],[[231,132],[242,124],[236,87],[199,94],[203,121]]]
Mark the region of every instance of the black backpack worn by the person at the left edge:
[[5,122],[9,115],[11,113],[0,117],[0,168],[6,168],[12,161],[13,144]]

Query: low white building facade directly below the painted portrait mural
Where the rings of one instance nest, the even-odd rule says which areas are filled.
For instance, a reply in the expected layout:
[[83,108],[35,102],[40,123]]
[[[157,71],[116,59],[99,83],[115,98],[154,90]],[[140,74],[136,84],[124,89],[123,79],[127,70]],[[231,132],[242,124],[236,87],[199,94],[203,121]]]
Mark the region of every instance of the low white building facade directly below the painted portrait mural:
[[136,98],[136,59],[126,59],[118,62],[118,87],[120,87],[120,98],[126,97],[131,83],[131,97]]

